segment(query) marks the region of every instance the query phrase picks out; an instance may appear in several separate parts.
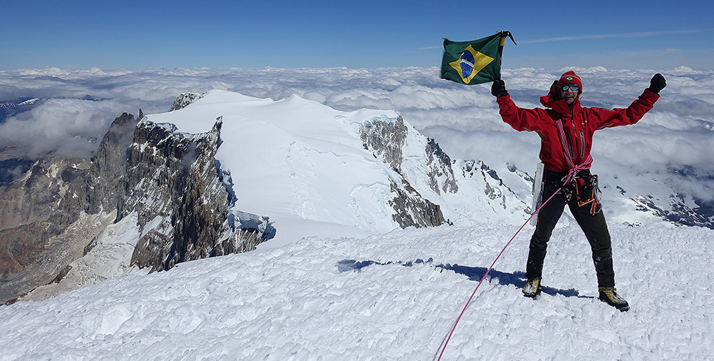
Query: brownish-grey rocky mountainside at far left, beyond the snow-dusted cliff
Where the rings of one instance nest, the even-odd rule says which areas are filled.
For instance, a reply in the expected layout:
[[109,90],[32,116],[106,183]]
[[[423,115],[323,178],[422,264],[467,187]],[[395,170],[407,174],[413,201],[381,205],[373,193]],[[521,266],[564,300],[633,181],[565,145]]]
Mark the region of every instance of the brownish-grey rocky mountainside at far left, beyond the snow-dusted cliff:
[[[109,224],[136,122],[131,114],[116,118],[94,159],[39,159],[0,186],[0,302],[56,279]],[[82,229],[69,228],[89,215],[96,217]]]

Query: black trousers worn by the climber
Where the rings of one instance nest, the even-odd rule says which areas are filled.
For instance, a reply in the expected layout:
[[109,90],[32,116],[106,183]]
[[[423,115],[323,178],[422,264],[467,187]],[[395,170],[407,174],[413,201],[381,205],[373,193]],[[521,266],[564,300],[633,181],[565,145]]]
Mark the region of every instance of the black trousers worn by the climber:
[[[588,172],[589,175],[589,172]],[[545,184],[543,185],[543,202],[560,188],[561,179],[565,176],[560,172],[545,172]],[[615,287],[615,271],[613,271],[613,249],[610,241],[610,232],[605,223],[605,215],[598,207],[598,212],[590,214],[590,204],[578,207],[578,200],[573,196],[569,201],[563,192],[559,192],[555,197],[546,203],[538,213],[538,223],[535,225],[535,232],[531,237],[531,246],[528,252],[528,262],[526,263],[526,277],[528,279],[541,277],[543,274],[543,260],[545,250],[548,248],[548,240],[553,233],[555,224],[563,214],[565,204],[570,207],[570,212],[575,217],[575,221],[583,229],[585,237],[590,243],[593,251],[593,263],[595,272],[598,275],[599,287]]]

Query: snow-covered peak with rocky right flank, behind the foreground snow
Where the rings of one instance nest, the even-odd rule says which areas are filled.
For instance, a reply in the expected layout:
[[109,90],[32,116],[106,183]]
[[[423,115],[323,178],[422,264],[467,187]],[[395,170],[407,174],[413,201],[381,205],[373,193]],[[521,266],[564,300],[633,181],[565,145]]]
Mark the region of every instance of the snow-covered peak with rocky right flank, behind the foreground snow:
[[[214,89],[146,121],[203,133],[219,117],[216,160],[231,177],[229,192],[236,196],[231,209],[268,217],[277,230],[272,244],[388,232],[409,224],[403,217],[422,217],[413,211],[395,215],[406,207],[398,204],[405,197],[432,207],[435,217],[443,218],[436,224],[473,224],[493,211],[481,208],[494,199],[483,192],[484,179],[474,188],[461,169],[453,172],[451,159],[433,139],[394,111],[341,112],[296,95],[273,101]],[[496,208],[506,214],[521,209],[511,219],[523,218],[526,207],[514,194],[498,197],[495,202],[502,205]]]

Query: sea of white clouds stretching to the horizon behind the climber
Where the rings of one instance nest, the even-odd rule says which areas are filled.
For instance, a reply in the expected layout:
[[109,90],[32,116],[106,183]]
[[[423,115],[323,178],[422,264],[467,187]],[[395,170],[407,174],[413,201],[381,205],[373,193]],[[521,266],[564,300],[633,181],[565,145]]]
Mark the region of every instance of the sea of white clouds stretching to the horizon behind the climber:
[[[502,77],[516,104],[533,108],[567,70],[583,78],[585,107],[610,109],[627,107],[653,74],[663,74],[668,86],[645,118],[595,133],[593,169],[615,179],[658,179],[678,192],[714,200],[714,70],[523,68],[504,69]],[[17,147],[29,158],[47,152],[91,157],[99,146],[95,139],[122,112],[167,112],[178,94],[222,89],[274,100],[297,94],[344,111],[396,110],[452,158],[535,169],[540,139],[501,121],[490,83],[465,86],[439,76],[437,67],[0,71],[0,102],[39,98],[31,110],[0,124],[0,149]]]

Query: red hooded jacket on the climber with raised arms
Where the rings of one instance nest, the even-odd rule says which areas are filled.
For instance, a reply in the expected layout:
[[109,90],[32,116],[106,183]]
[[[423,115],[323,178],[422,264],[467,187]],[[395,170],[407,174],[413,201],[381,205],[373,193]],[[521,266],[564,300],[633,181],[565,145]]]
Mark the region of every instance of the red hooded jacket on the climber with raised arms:
[[554,119],[562,119],[570,154],[573,155],[575,164],[581,164],[590,154],[595,130],[635,124],[660,98],[659,94],[645,89],[627,109],[613,110],[580,107],[580,99],[576,98],[571,112],[565,99],[555,100],[560,98],[557,92],[553,84],[550,93],[540,97],[540,104],[550,109],[516,107],[511,95],[496,99],[503,122],[518,132],[527,130],[540,135],[540,161],[545,164],[545,169],[557,172],[568,172],[570,167],[563,155],[563,146],[560,144]]

